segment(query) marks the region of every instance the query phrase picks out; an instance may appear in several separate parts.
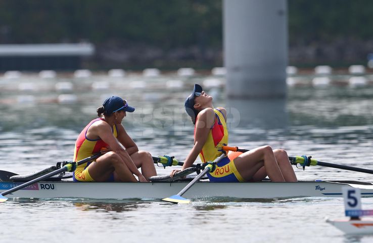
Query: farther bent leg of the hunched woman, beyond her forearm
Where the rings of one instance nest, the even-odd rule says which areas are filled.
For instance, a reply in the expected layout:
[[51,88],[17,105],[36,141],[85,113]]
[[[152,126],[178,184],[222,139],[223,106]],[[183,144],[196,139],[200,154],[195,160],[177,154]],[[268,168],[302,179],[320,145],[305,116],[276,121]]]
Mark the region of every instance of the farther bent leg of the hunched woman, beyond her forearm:
[[137,169],[141,168],[141,174],[143,174],[146,179],[157,175],[153,157],[149,152],[140,150],[138,152],[132,153],[131,159]]

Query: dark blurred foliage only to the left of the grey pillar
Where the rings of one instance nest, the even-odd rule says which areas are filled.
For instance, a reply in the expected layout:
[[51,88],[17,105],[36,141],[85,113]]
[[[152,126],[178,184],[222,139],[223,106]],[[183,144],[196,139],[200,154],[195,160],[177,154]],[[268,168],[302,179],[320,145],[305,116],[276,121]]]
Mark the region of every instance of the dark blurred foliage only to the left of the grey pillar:
[[3,0],[0,43],[221,45],[216,0]]

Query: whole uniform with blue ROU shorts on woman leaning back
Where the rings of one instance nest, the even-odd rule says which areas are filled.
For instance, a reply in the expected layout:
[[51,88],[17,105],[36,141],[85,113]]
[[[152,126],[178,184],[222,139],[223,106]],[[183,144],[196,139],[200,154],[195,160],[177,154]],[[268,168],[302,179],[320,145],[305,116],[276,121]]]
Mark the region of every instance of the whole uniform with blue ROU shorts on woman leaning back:
[[[221,147],[228,144],[228,130],[225,117],[219,109],[214,109],[215,123],[211,127],[209,135],[200,152],[203,163],[213,161],[221,155]],[[198,118],[198,117],[197,117]],[[196,122],[197,124],[197,122]],[[195,128],[196,133],[196,128]],[[221,159],[213,172],[207,173],[211,182],[243,182],[245,181],[238,173],[235,163],[228,157]]]

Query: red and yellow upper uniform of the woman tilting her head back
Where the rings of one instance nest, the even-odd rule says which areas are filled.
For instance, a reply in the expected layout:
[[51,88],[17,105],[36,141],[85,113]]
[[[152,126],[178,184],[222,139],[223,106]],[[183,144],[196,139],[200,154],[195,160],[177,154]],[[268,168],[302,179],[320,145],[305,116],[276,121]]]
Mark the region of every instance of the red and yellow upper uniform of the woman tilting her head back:
[[[200,151],[200,158],[203,163],[213,161],[215,158],[219,157],[222,153],[219,150],[224,144],[226,145],[228,143],[228,130],[226,128],[224,115],[218,109],[214,109],[214,112],[215,123],[211,127],[207,140]],[[194,135],[196,135],[196,127],[194,129]]]

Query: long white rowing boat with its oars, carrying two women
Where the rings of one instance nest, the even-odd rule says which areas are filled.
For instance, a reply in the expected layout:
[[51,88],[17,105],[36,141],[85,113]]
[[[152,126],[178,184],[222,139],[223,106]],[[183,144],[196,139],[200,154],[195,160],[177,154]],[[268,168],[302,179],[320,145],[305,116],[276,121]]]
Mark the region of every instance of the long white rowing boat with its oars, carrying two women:
[[[239,149],[237,147],[228,148],[235,149],[235,151],[244,151],[244,149]],[[208,179],[202,178],[203,174],[209,170],[208,166],[206,166],[207,169],[202,167],[204,171],[198,176],[195,176],[192,181],[190,181],[190,179],[192,179],[191,177],[184,178],[184,176],[190,173],[198,172],[201,169],[200,165],[194,165],[192,168],[178,172],[173,178],[169,178],[169,175],[167,175],[166,178],[164,178],[164,176],[151,177],[151,182],[146,183],[73,182],[71,181],[72,176],[66,175],[66,173],[73,171],[72,168],[75,164],[80,165],[82,163],[87,163],[87,161],[99,156],[101,156],[101,153],[94,154],[73,163],[57,163],[56,167],[51,167],[30,175],[19,176],[12,172],[0,171],[0,201],[6,201],[8,199],[4,197],[5,195],[10,198],[92,199],[167,199],[169,195],[178,195],[183,199],[179,199],[178,202],[183,201],[182,203],[186,203],[187,201],[185,198],[181,197],[182,194],[185,194],[185,197],[194,199],[217,197],[241,199],[342,197],[343,186],[361,190],[361,195],[364,197],[373,197],[373,184],[359,181],[309,180],[297,182],[271,182],[269,180],[263,180],[260,182],[213,183],[209,182]],[[219,158],[220,157],[223,157],[223,155],[219,156]],[[164,167],[183,165],[183,163],[174,159],[173,156],[158,156],[153,157],[153,160],[154,163],[160,163]],[[373,174],[372,170],[324,163],[311,159],[311,156],[289,157],[289,160],[293,165],[300,164],[303,168],[310,165],[320,165]],[[217,163],[217,161],[215,161],[215,163]],[[177,180],[176,175],[179,177]]]

